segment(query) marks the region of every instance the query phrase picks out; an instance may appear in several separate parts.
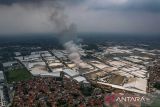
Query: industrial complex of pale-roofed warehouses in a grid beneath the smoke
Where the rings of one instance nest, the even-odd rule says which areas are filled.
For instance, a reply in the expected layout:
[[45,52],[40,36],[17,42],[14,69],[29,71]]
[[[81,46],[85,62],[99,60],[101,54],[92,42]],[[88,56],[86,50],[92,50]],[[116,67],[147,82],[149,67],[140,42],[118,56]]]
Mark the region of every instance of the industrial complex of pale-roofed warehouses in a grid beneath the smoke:
[[[143,57],[133,55],[134,52],[145,51],[136,48],[109,47],[104,53],[93,54],[93,59],[84,59],[79,66],[68,58],[66,50],[32,52],[31,55],[18,56],[16,59],[25,65],[33,76],[60,77],[60,73],[63,72],[65,76],[78,82],[96,82],[108,89],[146,94],[149,90],[147,66],[154,55]],[[122,53],[126,55],[121,56]]]

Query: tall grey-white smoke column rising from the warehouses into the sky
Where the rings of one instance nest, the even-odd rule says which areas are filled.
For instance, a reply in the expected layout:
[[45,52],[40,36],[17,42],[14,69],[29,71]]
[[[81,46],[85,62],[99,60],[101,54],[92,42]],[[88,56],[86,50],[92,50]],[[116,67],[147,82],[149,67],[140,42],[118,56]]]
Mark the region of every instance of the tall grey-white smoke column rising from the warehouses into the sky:
[[60,7],[61,6],[54,9],[54,11],[51,13],[50,20],[57,27],[60,40],[65,49],[69,52],[69,59],[77,66],[81,66],[83,61],[80,58],[78,46],[74,43],[74,38],[76,38],[77,32],[76,26],[75,24],[67,25],[67,17],[63,13],[63,8]]

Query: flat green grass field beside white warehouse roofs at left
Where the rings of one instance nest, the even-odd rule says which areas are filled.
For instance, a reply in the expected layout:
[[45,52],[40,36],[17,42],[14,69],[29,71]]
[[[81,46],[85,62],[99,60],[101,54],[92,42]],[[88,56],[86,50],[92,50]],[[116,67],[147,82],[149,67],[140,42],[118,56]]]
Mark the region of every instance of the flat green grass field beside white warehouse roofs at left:
[[5,76],[8,83],[28,80],[32,77],[30,72],[25,68],[16,68],[5,71]]

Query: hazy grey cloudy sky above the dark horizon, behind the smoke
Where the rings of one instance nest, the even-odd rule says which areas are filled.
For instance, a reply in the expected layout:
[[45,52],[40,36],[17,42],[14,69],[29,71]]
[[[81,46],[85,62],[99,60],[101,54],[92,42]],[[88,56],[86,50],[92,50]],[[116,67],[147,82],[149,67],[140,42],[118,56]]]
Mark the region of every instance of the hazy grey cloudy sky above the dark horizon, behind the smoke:
[[55,2],[78,32],[160,33],[160,0],[0,0],[0,34],[56,32]]

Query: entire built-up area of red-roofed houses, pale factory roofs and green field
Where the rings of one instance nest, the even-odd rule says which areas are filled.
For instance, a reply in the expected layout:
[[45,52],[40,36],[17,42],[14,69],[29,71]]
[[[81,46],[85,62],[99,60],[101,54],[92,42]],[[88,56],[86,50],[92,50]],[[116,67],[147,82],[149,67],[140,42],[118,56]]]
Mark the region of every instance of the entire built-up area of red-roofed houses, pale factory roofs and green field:
[[106,93],[156,91],[160,50],[99,46],[99,52],[83,47],[77,47],[78,63],[67,50],[14,52],[13,60],[2,63],[0,107],[102,107]]

